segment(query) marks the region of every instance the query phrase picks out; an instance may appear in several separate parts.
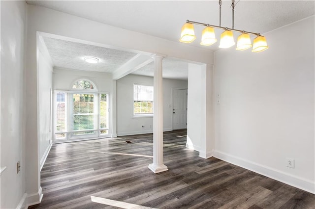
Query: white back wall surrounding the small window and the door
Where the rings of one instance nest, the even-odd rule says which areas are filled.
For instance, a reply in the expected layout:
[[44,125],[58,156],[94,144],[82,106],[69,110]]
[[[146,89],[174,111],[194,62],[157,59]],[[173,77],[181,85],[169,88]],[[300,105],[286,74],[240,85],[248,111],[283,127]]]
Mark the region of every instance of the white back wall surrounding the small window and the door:
[[[133,117],[133,83],[153,86],[153,77],[127,75],[117,80],[117,135],[153,132],[153,116]],[[163,131],[172,130],[173,112],[170,105],[173,88],[187,89],[187,81],[163,79]]]

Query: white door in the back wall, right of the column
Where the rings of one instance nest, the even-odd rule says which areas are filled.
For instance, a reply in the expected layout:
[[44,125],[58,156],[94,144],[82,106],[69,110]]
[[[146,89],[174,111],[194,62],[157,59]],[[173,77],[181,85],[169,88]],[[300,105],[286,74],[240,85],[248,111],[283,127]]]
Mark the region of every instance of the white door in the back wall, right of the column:
[[187,129],[187,89],[173,89],[173,130]]

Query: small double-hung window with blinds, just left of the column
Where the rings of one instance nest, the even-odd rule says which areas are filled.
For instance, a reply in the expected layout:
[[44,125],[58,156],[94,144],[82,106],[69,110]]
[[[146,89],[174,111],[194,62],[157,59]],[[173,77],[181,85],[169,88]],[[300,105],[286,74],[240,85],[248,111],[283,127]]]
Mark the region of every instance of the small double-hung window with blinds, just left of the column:
[[133,115],[153,115],[153,86],[133,84]]

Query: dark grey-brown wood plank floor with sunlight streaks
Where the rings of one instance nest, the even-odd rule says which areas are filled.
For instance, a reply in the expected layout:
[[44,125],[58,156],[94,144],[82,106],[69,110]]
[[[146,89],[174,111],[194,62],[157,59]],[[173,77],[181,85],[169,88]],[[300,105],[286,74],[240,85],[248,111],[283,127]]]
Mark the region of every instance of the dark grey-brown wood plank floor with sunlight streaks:
[[186,134],[164,133],[169,170],[159,174],[148,168],[152,134],[54,144],[41,171],[42,202],[29,208],[315,209],[314,194],[198,157],[185,148]]

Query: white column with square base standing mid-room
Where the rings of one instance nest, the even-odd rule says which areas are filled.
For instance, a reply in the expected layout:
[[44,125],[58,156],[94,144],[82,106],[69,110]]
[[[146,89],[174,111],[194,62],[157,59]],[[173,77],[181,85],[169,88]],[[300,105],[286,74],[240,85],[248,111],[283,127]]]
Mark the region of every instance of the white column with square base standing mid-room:
[[167,171],[163,164],[163,80],[162,80],[162,55],[155,54],[154,80],[153,80],[153,163],[149,169],[153,173]]

